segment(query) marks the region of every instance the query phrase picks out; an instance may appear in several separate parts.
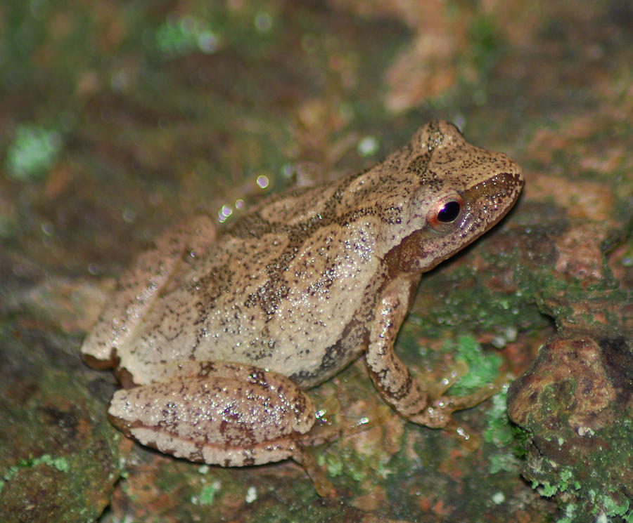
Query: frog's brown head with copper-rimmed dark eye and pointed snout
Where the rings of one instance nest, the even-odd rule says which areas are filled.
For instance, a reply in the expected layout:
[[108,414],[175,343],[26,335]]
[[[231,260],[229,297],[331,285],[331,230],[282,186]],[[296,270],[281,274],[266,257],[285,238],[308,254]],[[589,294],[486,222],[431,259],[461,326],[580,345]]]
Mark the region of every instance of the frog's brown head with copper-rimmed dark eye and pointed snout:
[[386,257],[393,272],[433,269],[499,222],[523,187],[518,164],[466,143],[445,121],[420,128],[402,152],[400,168],[416,188],[407,234]]

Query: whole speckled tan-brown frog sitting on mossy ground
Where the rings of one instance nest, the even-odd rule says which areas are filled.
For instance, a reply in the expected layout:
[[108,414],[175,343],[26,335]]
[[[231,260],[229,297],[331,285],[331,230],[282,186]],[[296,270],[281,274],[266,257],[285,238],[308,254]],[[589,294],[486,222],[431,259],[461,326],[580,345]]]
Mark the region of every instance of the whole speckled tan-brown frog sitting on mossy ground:
[[222,230],[204,214],[174,226],[122,274],[81,348],[123,386],[110,421],[193,462],[290,458],[331,494],[306,451],[326,438],[307,390],[355,359],[418,425],[446,427],[490,396],[433,392],[394,342],[422,274],[497,224],[523,183],[506,154],[431,121],[376,166],[274,194]]

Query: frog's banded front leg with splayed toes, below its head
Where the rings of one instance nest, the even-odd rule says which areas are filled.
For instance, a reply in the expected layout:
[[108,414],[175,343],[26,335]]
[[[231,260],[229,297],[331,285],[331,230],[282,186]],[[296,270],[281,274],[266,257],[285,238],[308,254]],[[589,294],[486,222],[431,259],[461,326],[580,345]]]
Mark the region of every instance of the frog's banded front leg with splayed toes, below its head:
[[[417,279],[398,278],[390,282],[378,301],[372,325],[366,364],[376,388],[385,400],[409,421],[431,428],[445,427],[454,411],[468,409],[494,393],[494,387],[484,388],[472,395],[452,397],[442,393],[452,385],[436,388],[435,396],[421,388],[407,366],[397,357],[393,344],[400,325],[409,310],[409,303],[417,286]],[[452,381],[460,376],[452,376]]]

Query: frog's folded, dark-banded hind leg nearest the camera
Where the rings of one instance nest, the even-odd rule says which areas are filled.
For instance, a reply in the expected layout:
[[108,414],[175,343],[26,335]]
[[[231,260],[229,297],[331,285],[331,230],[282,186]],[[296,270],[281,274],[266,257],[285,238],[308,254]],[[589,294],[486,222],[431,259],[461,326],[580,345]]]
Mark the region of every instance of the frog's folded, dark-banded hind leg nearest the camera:
[[115,393],[113,423],[142,444],[191,461],[241,466],[301,456],[314,425],[295,383],[253,366],[186,362],[160,383]]

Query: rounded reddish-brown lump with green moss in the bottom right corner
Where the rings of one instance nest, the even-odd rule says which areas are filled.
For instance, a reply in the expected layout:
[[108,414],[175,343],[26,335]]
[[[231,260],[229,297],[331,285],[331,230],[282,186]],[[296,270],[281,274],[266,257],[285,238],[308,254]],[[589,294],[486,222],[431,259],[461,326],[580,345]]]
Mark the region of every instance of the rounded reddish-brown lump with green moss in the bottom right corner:
[[508,412],[528,435],[524,477],[556,496],[569,521],[631,517],[630,339],[559,333],[511,385]]

